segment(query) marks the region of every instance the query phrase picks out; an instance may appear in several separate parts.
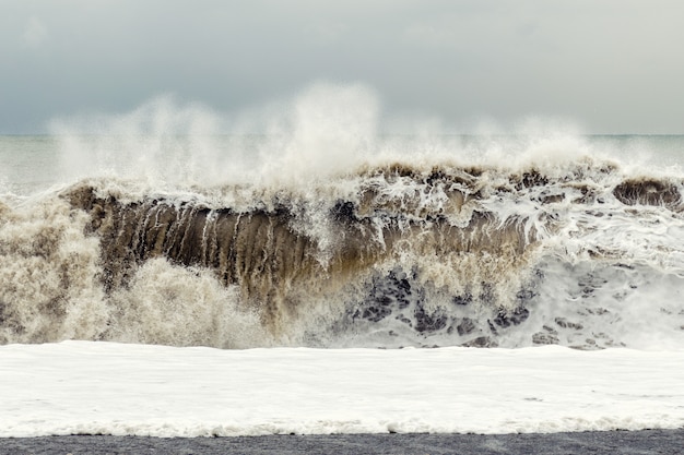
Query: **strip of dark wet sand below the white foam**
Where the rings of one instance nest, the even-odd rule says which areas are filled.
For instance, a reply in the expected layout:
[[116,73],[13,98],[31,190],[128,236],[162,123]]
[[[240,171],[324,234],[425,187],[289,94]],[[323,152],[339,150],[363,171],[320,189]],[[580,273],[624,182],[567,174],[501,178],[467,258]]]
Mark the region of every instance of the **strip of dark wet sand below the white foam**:
[[684,429],[550,434],[332,434],[0,439],[0,454],[681,454]]

